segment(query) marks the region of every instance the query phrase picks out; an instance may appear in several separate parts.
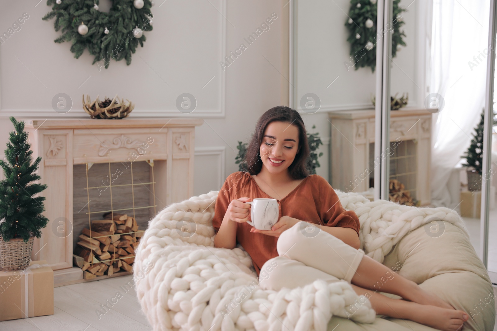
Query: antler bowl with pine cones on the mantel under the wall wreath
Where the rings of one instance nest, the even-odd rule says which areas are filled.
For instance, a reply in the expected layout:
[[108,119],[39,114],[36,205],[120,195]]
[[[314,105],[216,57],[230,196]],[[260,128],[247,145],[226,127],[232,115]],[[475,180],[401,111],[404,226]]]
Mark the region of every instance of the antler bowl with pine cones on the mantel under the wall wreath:
[[86,95],[86,101],[84,101],[83,94],[83,109],[90,114],[92,119],[122,119],[127,117],[135,108],[135,104],[128,99],[126,99],[128,102],[124,102],[122,99],[119,100],[117,94],[112,100],[105,97],[104,101],[98,100],[98,96],[91,102],[89,95]]

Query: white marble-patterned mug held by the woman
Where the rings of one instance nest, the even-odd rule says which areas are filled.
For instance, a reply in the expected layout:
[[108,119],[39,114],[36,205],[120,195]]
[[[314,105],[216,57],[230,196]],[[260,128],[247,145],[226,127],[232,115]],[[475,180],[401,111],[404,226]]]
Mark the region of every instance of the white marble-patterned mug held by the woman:
[[250,202],[250,218],[248,224],[258,230],[271,230],[279,219],[279,203],[276,199],[255,198]]

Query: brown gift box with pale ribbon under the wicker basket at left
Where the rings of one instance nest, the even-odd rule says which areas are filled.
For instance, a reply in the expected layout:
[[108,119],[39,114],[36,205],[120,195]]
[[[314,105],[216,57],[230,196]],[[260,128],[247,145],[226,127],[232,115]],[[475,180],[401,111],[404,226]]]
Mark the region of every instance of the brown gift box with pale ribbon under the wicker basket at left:
[[0,321],[44,315],[54,315],[54,271],[47,262],[0,271]]

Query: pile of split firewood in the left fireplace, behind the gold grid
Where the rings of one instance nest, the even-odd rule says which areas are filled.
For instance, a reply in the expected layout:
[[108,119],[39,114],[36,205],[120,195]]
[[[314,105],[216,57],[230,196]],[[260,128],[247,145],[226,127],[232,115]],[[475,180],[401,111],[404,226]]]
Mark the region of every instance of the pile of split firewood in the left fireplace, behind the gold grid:
[[145,231],[138,230],[134,217],[105,213],[101,220],[84,228],[73,255],[74,264],[83,269],[84,279],[129,273],[133,270],[135,250]]

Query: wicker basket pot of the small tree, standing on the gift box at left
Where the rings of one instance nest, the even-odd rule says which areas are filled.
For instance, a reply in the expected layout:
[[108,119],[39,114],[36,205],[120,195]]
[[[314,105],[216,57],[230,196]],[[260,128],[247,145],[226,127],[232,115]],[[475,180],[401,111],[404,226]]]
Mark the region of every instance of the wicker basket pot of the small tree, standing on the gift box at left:
[[33,251],[34,237],[24,242],[22,238],[3,241],[0,237],[0,270],[22,270],[29,266],[31,252]]

